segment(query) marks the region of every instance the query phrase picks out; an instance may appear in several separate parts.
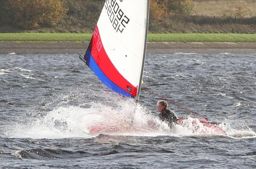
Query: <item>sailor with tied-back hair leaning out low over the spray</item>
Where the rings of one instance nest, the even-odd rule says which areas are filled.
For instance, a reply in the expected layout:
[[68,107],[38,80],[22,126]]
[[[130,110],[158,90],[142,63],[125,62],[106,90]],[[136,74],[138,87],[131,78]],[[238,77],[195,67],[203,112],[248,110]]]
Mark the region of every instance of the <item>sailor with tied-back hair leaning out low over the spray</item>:
[[165,121],[169,127],[172,127],[174,124],[178,123],[178,117],[177,115],[173,112],[168,110],[168,105],[167,102],[164,100],[159,100],[157,102],[158,106],[158,111],[161,112],[159,114],[159,119],[162,121]]

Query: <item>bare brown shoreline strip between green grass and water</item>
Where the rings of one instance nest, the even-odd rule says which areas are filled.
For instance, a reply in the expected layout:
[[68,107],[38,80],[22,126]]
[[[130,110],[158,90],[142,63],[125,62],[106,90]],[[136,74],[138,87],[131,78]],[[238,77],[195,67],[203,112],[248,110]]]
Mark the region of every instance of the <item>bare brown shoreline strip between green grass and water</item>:
[[[2,41],[0,54],[84,54],[89,41]],[[248,42],[148,42],[147,53],[256,53],[256,44]]]

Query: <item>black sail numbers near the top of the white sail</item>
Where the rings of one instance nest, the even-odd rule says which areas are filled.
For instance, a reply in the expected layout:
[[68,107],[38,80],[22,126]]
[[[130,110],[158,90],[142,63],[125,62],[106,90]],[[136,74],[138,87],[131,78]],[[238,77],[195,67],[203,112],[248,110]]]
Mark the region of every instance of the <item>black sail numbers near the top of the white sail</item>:
[[[120,0],[120,2],[122,1]],[[106,0],[104,6],[114,30],[122,33],[130,19],[124,15],[116,0]]]

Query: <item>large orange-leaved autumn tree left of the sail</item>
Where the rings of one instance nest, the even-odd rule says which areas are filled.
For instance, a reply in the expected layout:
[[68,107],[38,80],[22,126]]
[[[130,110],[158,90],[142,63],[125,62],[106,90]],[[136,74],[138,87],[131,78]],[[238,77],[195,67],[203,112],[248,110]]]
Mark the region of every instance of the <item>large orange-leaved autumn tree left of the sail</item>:
[[9,0],[12,24],[23,29],[56,26],[68,11],[61,0]]

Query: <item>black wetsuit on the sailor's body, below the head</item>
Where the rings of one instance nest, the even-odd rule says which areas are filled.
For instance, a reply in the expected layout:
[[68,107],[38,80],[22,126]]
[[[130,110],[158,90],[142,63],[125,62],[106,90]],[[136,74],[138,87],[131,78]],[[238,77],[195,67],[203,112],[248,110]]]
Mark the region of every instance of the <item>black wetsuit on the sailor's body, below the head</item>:
[[178,122],[177,115],[173,111],[170,111],[166,108],[164,108],[159,114],[159,119],[165,121],[170,127]]

